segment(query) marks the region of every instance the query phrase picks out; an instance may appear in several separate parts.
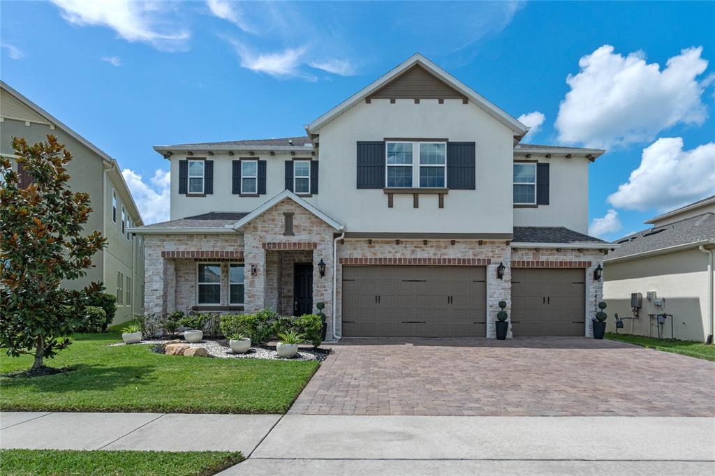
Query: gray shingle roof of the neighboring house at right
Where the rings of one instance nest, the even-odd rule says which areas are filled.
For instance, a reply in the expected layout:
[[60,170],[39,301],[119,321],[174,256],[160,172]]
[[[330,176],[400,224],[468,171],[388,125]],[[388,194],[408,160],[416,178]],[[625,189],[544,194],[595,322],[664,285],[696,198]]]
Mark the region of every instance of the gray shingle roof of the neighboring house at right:
[[608,259],[655,251],[680,244],[701,242],[706,239],[715,239],[715,214],[713,213],[705,213],[667,224],[664,227],[653,227],[629,234],[627,237],[616,240],[621,247],[611,252]]

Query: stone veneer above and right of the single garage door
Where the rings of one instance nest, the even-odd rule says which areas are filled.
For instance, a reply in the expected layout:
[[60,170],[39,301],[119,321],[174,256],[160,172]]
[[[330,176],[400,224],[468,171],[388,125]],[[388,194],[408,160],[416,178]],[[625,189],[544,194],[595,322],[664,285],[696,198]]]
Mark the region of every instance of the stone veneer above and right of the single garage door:
[[[593,322],[596,318],[597,304],[603,299],[603,280],[593,281],[593,270],[598,264],[603,265],[605,256],[598,249],[584,249],[579,252],[577,249],[561,249],[557,251],[553,248],[545,249],[516,249],[511,252],[512,261],[526,261],[528,267],[560,267],[556,263],[571,262],[574,267],[586,269],[586,335],[593,337]],[[541,262],[541,263],[540,263]],[[583,262],[591,262],[591,266],[583,266]],[[578,265],[578,266],[576,266]]]

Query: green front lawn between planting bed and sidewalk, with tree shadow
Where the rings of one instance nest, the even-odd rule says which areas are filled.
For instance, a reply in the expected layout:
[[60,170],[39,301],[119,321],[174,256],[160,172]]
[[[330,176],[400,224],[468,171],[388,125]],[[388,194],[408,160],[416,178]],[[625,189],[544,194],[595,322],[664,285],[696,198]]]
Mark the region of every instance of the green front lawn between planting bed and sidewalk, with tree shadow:
[[[319,365],[171,356],[146,344],[107,345],[121,340],[117,332],[76,334],[69,348],[45,361],[71,372],[0,376],[0,410],[285,413]],[[0,352],[3,374],[31,366],[29,355]]]

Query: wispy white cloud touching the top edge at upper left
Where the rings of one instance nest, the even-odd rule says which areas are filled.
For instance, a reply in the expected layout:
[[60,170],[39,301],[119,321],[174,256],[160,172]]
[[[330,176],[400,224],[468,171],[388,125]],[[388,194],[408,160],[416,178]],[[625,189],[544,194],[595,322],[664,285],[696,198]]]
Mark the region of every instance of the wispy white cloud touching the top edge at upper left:
[[127,41],[142,41],[158,49],[184,49],[189,31],[167,23],[172,4],[144,0],[51,0],[62,18],[81,26],[107,26]]

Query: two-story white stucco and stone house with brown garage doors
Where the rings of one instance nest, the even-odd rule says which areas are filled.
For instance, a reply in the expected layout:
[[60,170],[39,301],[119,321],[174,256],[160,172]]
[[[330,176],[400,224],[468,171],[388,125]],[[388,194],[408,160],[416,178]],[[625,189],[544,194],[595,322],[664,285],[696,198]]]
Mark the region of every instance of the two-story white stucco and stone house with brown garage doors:
[[494,337],[504,300],[515,336],[591,334],[602,150],[519,144],[526,126],[420,54],[305,130],[154,147],[171,220],[136,229],[148,312],[324,302],[336,338]]

